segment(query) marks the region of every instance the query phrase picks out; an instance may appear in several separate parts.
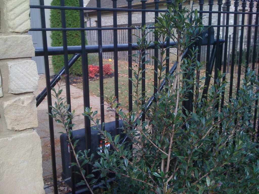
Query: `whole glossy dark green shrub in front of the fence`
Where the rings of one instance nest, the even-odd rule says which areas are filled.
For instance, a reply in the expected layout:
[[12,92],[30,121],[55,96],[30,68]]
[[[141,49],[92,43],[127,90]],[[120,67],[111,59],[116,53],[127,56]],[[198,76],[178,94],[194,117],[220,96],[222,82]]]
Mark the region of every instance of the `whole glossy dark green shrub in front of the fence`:
[[[146,104],[142,106],[143,100],[149,100],[141,91],[141,74],[147,63],[142,62],[143,52],[147,53],[150,44],[146,40],[146,26],[140,29],[142,36],[137,37],[138,50],[133,56],[138,64],[137,69],[132,69],[137,111],[125,114],[115,98],[107,99],[108,110],[123,120],[130,141],[124,142],[119,135],[112,137],[101,123],[102,127],[96,130],[111,149],[99,148],[100,159],[96,161],[92,161],[89,151],[76,154],[79,162],[100,172],[105,193],[259,192],[259,150],[253,141],[251,122],[251,110],[259,97],[258,75],[248,69],[236,98],[217,108],[226,86],[221,81],[225,75],[219,71],[206,99],[199,92],[192,101],[193,110],[185,109],[182,102],[188,99],[192,86],[195,85],[195,91],[203,89],[204,78],[198,79],[196,75],[203,64],[197,61],[197,49],[193,46],[197,40],[195,32],[201,32],[203,25],[197,10],[191,14],[191,9],[181,7],[182,3],[173,1],[168,12],[157,18],[154,32],[160,40],[156,44],[161,58],[154,57],[158,61],[158,86],[152,106],[149,109]],[[178,50],[177,68],[172,75],[165,73],[167,57],[163,56],[167,48],[159,46],[168,38],[175,40]],[[189,56],[182,59],[187,48]],[[160,90],[163,79],[165,89]],[[143,110],[145,121],[141,119]],[[93,119],[96,114],[97,111],[86,107],[83,115],[99,126],[99,119]],[[107,182],[111,173],[115,176],[112,185]],[[87,177],[92,177],[91,183],[97,181],[91,174]]]

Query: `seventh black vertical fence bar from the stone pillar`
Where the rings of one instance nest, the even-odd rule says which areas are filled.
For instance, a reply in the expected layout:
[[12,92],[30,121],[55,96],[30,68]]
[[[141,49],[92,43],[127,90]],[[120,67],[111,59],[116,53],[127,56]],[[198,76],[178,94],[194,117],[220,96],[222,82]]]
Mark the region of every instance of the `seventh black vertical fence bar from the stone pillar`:
[[[146,9],[146,1],[147,0],[141,0],[140,2],[142,3],[142,9]],[[141,25],[144,26],[146,24],[146,12],[145,11],[142,11],[142,21],[141,21]],[[142,34],[143,36],[143,34]],[[145,50],[142,50],[142,56],[145,55]],[[145,99],[144,99],[144,96],[145,96],[145,91],[146,91],[146,86],[145,86],[145,81],[146,81],[146,72],[144,71],[146,69],[146,64],[145,64],[145,61],[146,61],[146,57],[143,57],[142,59],[142,81],[141,81],[141,92],[142,92],[142,115],[141,115],[141,119],[142,119],[142,122],[145,121]]]

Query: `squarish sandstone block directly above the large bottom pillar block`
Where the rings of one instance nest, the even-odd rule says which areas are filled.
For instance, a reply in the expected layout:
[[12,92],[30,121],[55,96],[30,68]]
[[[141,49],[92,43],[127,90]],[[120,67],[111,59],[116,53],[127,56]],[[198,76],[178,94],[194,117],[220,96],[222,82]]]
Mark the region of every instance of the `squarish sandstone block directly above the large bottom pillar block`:
[[3,108],[9,130],[21,131],[38,126],[36,99],[33,94],[20,95],[5,101]]

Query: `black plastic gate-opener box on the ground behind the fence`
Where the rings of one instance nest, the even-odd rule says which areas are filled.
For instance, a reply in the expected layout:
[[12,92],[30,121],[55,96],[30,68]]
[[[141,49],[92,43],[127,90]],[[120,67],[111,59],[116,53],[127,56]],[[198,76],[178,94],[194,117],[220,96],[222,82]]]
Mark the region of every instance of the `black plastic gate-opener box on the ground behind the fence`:
[[[119,120],[119,128],[123,126],[123,122]],[[99,126],[100,127],[100,126]],[[94,160],[98,158],[98,147],[100,146],[100,141],[102,141],[100,135],[98,135],[99,131],[93,129],[95,127],[91,127],[91,151],[94,153],[95,157]],[[111,133],[112,136],[116,135],[116,127],[115,121],[105,123],[105,130]],[[124,138],[125,133],[123,133],[122,129],[119,129],[120,137]],[[85,150],[85,130],[78,129],[73,131],[74,141],[79,139],[75,151],[84,151]],[[71,177],[71,169],[70,169],[70,152],[69,152],[69,143],[68,143],[67,134],[62,134],[60,136],[60,146],[61,146],[61,159],[62,159],[62,179],[65,180]],[[78,168],[77,168],[78,169]],[[75,182],[78,183],[82,180],[81,175],[75,174]],[[67,180],[66,183],[71,186],[71,179]]]

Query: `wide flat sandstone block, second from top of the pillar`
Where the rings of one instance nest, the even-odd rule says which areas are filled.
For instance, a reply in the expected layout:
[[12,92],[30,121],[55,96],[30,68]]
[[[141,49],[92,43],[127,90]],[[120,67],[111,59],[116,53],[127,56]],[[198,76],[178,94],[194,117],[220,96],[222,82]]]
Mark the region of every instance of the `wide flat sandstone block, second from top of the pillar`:
[[0,59],[35,56],[31,35],[0,36]]

